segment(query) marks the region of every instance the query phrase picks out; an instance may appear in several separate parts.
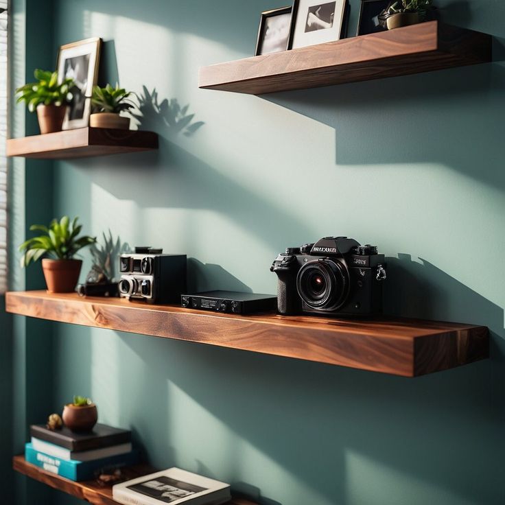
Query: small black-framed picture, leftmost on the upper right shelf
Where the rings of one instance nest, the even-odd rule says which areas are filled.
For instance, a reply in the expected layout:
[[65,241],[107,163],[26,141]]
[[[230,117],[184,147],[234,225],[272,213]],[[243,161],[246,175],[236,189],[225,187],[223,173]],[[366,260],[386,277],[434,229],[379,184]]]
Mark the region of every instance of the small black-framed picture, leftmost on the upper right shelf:
[[255,56],[285,51],[290,43],[292,6],[261,12]]

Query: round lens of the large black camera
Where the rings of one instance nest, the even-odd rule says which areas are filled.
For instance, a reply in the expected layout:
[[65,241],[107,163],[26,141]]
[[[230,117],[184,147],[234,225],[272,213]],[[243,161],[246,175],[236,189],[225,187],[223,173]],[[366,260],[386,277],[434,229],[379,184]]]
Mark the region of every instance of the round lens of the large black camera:
[[298,271],[296,289],[309,307],[336,310],[349,295],[349,272],[340,261],[309,261]]

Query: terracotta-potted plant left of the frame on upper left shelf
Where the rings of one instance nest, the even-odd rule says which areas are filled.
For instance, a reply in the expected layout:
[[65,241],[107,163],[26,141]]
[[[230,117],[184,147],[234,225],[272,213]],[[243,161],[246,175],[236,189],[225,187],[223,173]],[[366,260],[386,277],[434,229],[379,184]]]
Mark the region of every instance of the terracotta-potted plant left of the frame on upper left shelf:
[[37,82],[29,82],[16,89],[17,102],[25,102],[28,110],[37,111],[40,133],[59,132],[61,130],[67,105],[71,97],[73,79],[58,82],[58,73],[36,69]]

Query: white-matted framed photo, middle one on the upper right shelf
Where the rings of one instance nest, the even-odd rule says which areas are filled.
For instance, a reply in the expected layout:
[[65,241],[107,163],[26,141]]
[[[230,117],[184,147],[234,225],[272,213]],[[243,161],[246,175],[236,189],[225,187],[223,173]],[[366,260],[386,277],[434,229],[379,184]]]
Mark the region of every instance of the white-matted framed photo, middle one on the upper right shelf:
[[339,40],[347,0],[294,0],[290,49]]

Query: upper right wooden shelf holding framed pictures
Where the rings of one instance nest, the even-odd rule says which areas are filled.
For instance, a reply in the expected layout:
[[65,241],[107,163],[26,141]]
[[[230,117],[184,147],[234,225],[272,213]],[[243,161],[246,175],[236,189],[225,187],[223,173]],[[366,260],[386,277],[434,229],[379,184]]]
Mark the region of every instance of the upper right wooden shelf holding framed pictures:
[[438,21],[202,67],[200,88],[272,93],[491,61],[492,37]]

